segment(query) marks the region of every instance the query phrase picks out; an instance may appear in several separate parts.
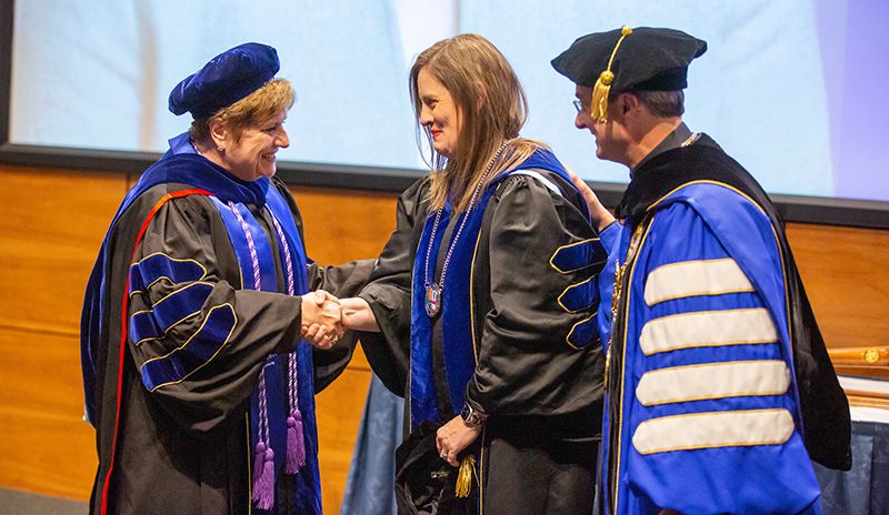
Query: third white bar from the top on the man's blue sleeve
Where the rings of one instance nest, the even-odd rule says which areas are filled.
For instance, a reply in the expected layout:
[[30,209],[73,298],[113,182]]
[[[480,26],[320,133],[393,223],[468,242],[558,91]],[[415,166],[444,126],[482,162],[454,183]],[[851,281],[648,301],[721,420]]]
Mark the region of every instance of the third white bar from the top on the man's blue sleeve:
[[636,387],[643,406],[703,398],[780,395],[790,386],[783,361],[743,361],[646,372]]

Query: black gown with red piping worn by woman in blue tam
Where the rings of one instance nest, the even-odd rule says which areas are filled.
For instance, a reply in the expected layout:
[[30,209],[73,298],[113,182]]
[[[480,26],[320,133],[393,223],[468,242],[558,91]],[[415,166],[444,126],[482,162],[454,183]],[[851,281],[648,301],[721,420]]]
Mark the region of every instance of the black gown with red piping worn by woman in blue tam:
[[[201,165],[198,160],[202,158],[184,159],[191,159],[198,168]],[[208,170],[200,172],[219,172]],[[301,218],[287,186],[272,178],[269,188],[286,200],[301,240]],[[97,265],[94,272],[103,275],[106,294],[88,295],[84,305],[84,337],[90,327],[94,337],[90,347],[94,354],[84,352],[83,356],[84,377],[86,371],[92,373],[94,367],[96,378],[94,390],[87,384],[88,396],[93,393],[88,404],[94,404],[91,423],[96,426],[99,454],[91,501],[93,514],[264,513],[258,512],[254,503],[251,507],[250,498],[251,394],[270,355],[291,353],[307,345],[298,343],[301,299],[286,294],[287,267],[281,263],[279,239],[268,210],[244,202],[270,242],[278,293],[244,289],[247,277],[220,211],[207,194],[178,196],[190,189],[189,184],[160,183],[134,200],[128,199],[129,205],[119,213],[107,235],[103,266]],[[164,196],[172,198],[157,209]],[[162,276],[146,284],[142,292],[133,292],[121,317],[128,281],[132,279],[131,264],[152,255],[162,255],[172,263],[166,275],[173,277]],[[177,267],[177,263],[182,267]],[[308,287],[324,289],[339,296],[353,295],[363,285],[372,263],[368,260],[339,267],[309,263]],[[200,277],[192,276],[194,271]],[[173,323],[158,339],[133,341],[132,329],[138,324],[132,321],[140,312],[156,307],[168,295],[184,304],[196,302],[187,296],[188,289],[183,289],[189,281],[193,281],[193,289],[206,290],[206,299],[201,297],[197,304],[199,312]],[[174,291],[177,294],[172,295]],[[230,334],[222,336],[224,344],[218,352],[206,356],[202,364],[180,361],[179,364],[191,370],[188,373],[171,370],[169,374],[176,381],[169,384],[151,383],[146,365],[193,346],[201,330],[213,324],[214,313],[231,313],[237,320],[226,326],[230,327]],[[130,331],[121,342],[123,323]],[[304,375],[300,368],[301,392],[320,391],[341,373],[354,340],[340,342],[331,351],[309,351],[314,367],[309,365]],[[286,398],[289,383],[278,378],[267,380],[267,392]],[[313,401],[301,396],[300,406],[303,417],[311,417],[303,420],[303,425],[308,461],[316,462],[310,466],[314,473],[300,478],[279,473],[272,508],[279,514],[320,513]],[[287,413],[273,416],[283,420]],[[277,456],[280,460],[282,456]],[[301,495],[304,498],[294,498]]]

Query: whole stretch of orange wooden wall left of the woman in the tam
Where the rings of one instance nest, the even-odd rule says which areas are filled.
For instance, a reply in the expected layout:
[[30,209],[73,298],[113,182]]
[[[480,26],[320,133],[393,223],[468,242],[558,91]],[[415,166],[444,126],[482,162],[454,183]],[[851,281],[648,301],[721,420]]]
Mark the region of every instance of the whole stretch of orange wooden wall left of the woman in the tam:
[[80,310],[127,179],[0,166],[0,486],[87,501]]

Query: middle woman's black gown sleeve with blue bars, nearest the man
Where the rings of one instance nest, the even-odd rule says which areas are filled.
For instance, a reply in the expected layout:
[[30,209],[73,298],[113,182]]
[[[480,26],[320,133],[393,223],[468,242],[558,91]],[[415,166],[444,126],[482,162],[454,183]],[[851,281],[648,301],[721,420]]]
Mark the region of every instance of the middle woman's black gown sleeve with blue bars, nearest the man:
[[[561,190],[573,193],[570,186]],[[559,296],[569,286],[595,281],[602,263],[563,273],[551,258],[562,246],[595,240],[595,231],[575,204],[527,175],[505,180],[486,218],[490,283],[487,295],[477,295],[487,302],[478,306],[482,336],[467,403],[498,416],[588,408],[601,397],[601,345],[597,340],[576,346],[568,335],[576,324],[595,316],[598,303],[569,312]],[[486,272],[478,267],[473,275]]]

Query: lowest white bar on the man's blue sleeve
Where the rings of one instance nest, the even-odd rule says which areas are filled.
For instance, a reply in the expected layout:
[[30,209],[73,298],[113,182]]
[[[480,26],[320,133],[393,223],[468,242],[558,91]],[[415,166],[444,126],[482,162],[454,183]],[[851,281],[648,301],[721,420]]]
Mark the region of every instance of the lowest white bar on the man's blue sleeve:
[[793,416],[789,411],[756,410],[716,412],[651,418],[632,435],[639,454],[680,450],[776,445],[790,440]]

